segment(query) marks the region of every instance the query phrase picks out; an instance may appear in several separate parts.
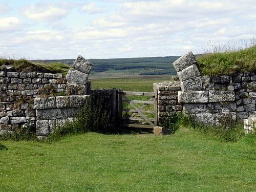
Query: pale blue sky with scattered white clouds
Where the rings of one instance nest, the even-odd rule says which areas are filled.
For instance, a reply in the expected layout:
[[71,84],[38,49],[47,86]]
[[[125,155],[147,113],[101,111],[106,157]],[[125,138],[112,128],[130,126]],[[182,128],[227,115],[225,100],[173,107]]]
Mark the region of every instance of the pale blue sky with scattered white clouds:
[[0,0],[4,58],[179,56],[255,34],[255,0]]

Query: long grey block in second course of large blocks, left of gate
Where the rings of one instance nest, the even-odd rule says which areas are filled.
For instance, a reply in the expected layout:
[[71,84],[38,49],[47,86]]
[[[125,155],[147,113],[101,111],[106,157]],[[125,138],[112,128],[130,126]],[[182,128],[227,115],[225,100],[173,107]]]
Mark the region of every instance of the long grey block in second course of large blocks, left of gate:
[[36,110],[36,117],[38,120],[46,119],[65,119],[68,118],[68,112],[66,108],[58,109],[40,109]]

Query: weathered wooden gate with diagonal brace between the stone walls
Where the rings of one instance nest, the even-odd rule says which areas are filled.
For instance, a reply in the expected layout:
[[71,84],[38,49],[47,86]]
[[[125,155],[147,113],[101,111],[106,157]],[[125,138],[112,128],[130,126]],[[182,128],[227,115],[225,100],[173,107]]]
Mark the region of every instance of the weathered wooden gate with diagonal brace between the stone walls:
[[154,129],[154,126],[157,126],[156,98],[157,93],[155,92],[131,92],[119,89],[118,116],[120,126]]

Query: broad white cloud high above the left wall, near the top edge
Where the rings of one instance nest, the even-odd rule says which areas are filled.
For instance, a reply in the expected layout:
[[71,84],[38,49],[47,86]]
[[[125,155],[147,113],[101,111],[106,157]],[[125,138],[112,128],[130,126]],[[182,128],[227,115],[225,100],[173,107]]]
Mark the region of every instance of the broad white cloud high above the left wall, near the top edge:
[[22,14],[30,20],[37,22],[55,22],[66,16],[67,9],[58,7],[54,4],[32,4],[22,8]]

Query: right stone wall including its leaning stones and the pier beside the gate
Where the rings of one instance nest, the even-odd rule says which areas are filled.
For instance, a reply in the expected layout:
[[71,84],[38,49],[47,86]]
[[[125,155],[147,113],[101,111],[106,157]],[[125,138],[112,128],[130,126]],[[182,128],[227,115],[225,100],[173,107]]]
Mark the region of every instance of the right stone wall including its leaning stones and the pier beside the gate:
[[[176,103],[183,113],[191,114],[196,120],[205,123],[218,124],[221,119],[228,117],[233,120],[245,119],[248,125],[246,119],[256,114],[256,71],[231,76],[201,76],[192,52],[180,57],[173,65],[180,82],[160,83],[156,87],[159,95],[159,122],[176,111]],[[174,89],[181,91],[173,91],[171,101],[168,100],[170,97],[166,97],[168,94],[161,96],[162,92]],[[177,97],[176,100],[174,96]],[[247,130],[251,131],[252,128]]]

